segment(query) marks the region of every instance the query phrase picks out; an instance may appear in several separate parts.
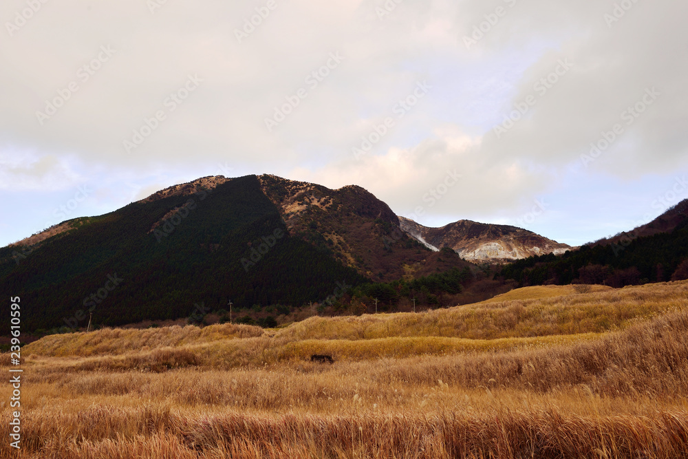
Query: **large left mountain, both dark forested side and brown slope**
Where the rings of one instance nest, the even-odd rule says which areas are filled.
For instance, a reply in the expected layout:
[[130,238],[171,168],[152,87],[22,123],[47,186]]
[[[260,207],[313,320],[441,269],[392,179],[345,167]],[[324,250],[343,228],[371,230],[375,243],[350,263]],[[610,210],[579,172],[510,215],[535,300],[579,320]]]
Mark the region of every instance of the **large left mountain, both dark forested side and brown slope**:
[[406,235],[359,186],[217,176],[0,248],[0,290],[21,297],[23,330],[48,330],[85,327],[90,312],[100,325],[123,325],[202,316],[230,300],[298,307],[468,266]]

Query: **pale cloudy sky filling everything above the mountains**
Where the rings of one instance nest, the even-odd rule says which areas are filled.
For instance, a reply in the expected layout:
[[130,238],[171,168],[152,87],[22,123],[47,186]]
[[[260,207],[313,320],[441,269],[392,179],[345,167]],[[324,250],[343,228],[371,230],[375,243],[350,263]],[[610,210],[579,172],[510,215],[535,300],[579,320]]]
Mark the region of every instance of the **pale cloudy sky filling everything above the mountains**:
[[0,246],[206,175],[573,246],[688,198],[688,3],[3,0]]

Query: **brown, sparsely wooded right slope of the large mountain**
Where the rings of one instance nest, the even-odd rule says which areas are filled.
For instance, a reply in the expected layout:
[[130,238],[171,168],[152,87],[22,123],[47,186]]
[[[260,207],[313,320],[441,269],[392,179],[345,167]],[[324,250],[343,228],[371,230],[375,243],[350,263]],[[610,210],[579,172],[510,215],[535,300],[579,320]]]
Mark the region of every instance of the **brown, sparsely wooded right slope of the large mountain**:
[[402,231],[389,206],[361,186],[332,190],[275,175],[261,175],[258,180],[290,235],[368,279],[393,281],[469,266],[418,244]]

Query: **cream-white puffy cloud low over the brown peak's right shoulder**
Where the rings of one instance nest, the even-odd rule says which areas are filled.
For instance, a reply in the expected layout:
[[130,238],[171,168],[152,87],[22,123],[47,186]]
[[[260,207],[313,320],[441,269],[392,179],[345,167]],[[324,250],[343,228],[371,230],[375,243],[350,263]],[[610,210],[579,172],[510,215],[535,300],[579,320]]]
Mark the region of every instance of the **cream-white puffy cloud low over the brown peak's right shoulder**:
[[[507,209],[519,204],[522,193],[544,186],[542,178],[518,160],[491,163],[481,156],[480,139],[436,129],[432,140],[411,149],[392,147],[381,155],[364,155],[311,171],[287,173],[299,180],[338,188],[358,184],[387,202],[400,215],[423,220],[426,213],[461,215],[485,208]],[[460,175],[458,180],[445,180]],[[514,193],[517,190],[519,193]],[[434,191],[434,194],[433,194]]]

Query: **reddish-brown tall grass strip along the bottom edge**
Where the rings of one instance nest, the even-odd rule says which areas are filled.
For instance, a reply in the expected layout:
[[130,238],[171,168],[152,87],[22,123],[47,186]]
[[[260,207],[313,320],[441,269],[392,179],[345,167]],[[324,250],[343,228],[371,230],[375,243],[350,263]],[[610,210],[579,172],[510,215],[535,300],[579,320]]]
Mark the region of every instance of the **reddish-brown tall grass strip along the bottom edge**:
[[[69,427],[50,429],[58,423]],[[645,418],[508,409],[480,414],[184,416],[164,408],[90,407],[78,415],[36,414],[25,429],[34,440],[27,442],[22,457],[41,459],[676,459],[688,455],[685,414],[671,412]],[[114,436],[115,432],[122,434]],[[0,453],[2,458],[12,456],[6,449]]]

